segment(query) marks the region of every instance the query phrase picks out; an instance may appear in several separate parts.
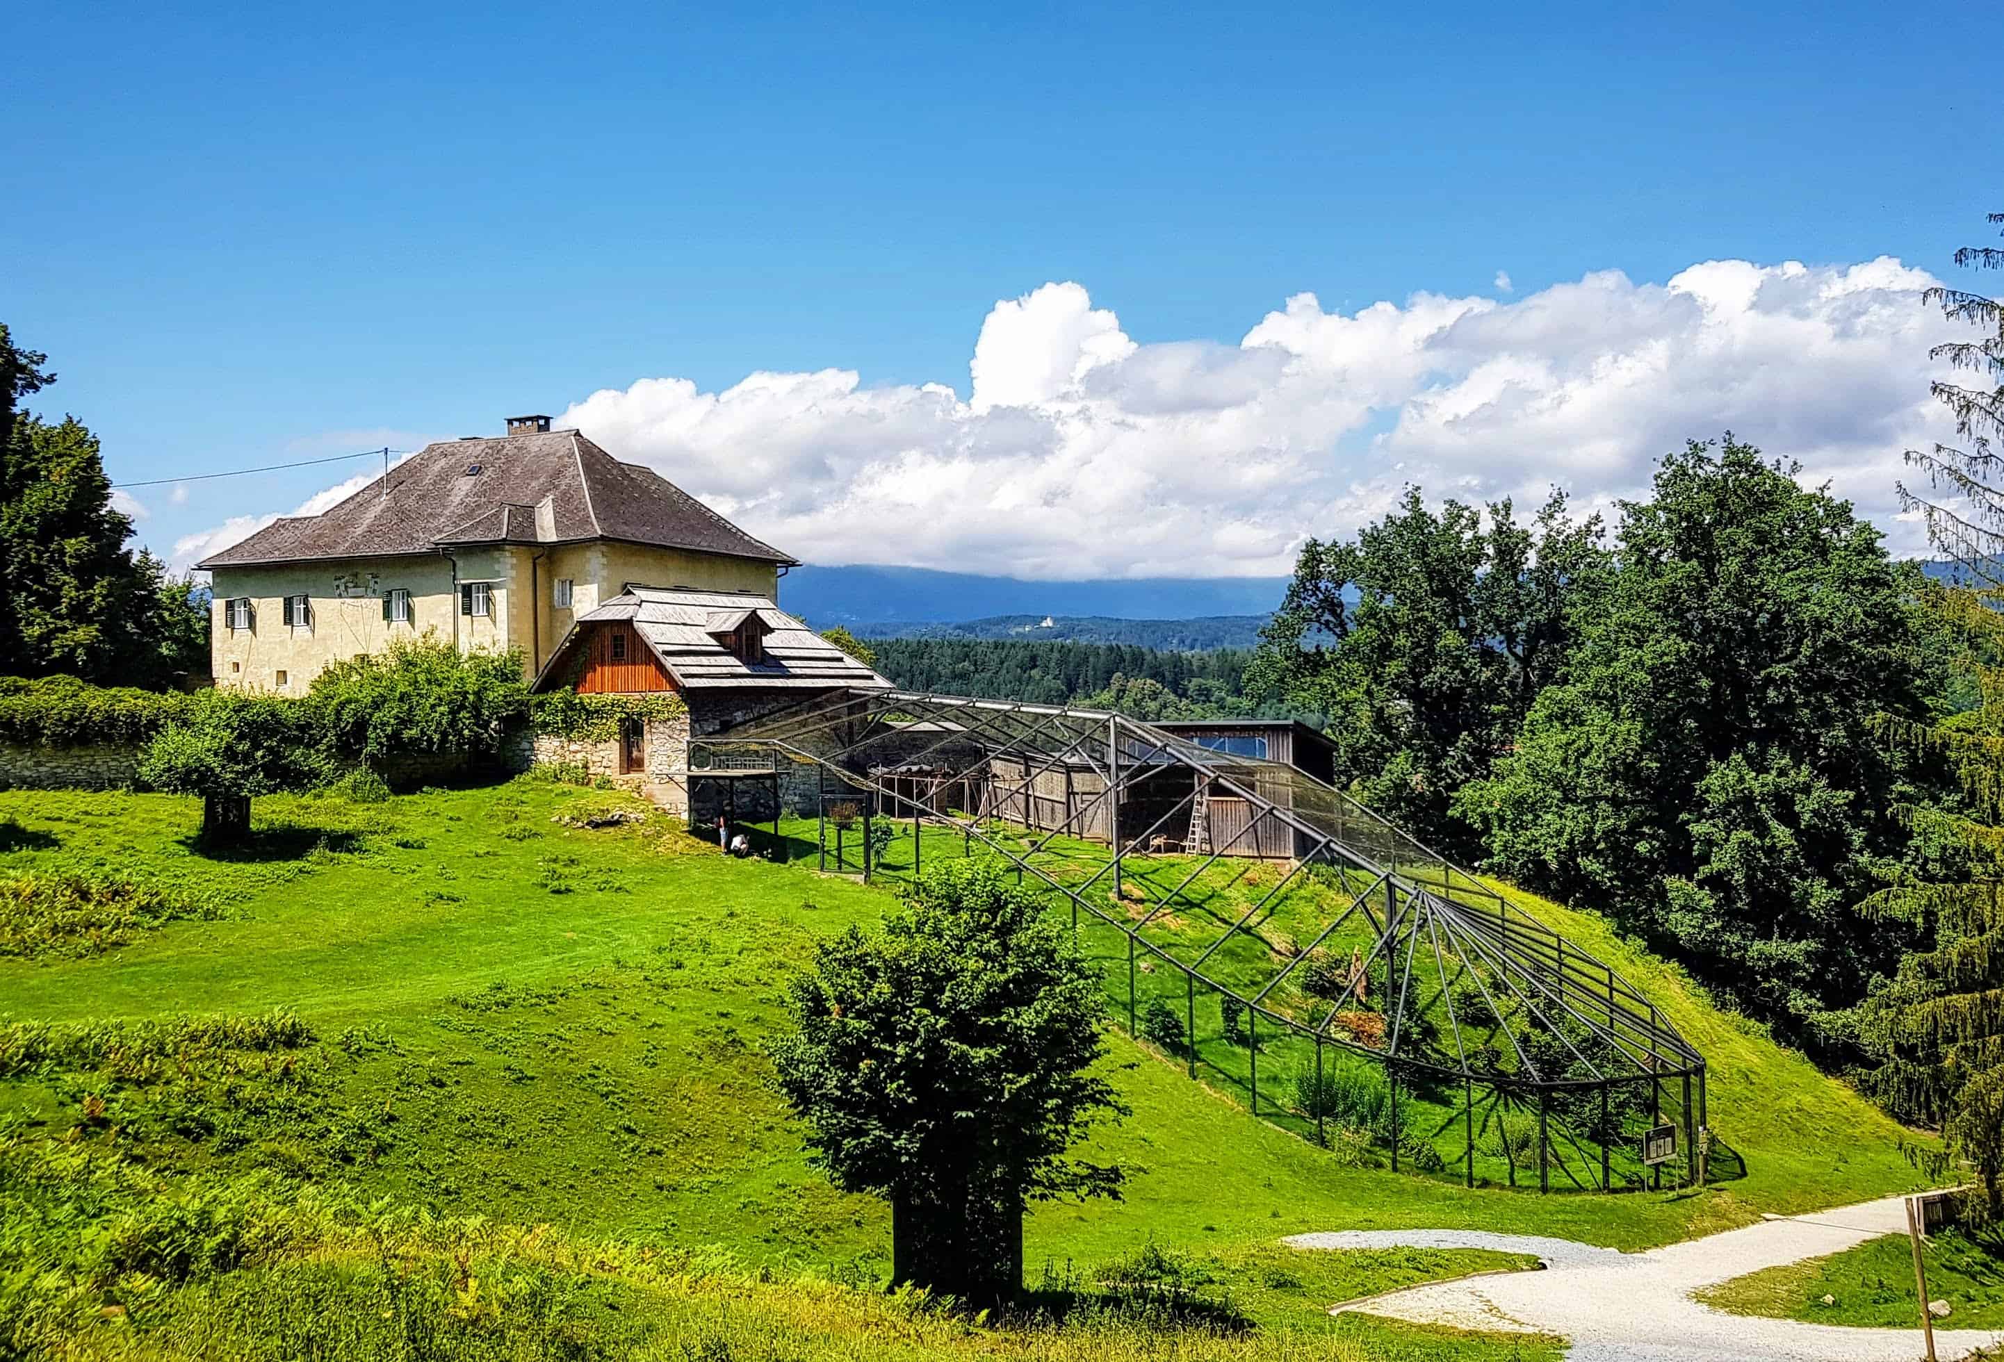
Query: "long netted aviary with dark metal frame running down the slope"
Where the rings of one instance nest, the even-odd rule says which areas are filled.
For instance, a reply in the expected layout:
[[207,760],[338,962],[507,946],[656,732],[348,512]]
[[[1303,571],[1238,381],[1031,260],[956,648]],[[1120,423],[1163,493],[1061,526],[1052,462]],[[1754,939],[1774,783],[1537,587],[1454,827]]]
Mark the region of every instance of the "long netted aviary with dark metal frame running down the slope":
[[[1657,1005],[1297,767],[1102,711],[862,689],[695,745],[908,825],[904,871],[1014,869],[1070,909],[1134,1036],[1313,1140],[1467,1186],[1705,1176],[1705,1060]],[[1675,1166],[1645,1162],[1663,1126]]]

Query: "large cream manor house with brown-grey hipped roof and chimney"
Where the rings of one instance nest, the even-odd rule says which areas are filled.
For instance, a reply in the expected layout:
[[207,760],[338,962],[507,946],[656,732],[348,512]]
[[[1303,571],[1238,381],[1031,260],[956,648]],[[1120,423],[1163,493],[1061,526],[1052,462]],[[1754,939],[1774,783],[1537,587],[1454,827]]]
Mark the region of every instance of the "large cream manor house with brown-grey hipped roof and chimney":
[[627,587],[778,599],[794,559],[651,469],[549,417],[427,445],[325,515],[287,517],[200,563],[216,685],[299,693],[337,659],[433,631],[543,669]]

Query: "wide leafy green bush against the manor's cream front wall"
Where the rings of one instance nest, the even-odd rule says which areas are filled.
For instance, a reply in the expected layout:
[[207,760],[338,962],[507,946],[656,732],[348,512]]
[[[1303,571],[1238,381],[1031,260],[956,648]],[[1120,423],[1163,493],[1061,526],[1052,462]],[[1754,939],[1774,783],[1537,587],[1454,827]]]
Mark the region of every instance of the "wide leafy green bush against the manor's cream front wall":
[[521,653],[461,653],[427,633],[329,663],[309,701],[333,749],[353,761],[407,751],[491,757],[527,721],[521,667]]

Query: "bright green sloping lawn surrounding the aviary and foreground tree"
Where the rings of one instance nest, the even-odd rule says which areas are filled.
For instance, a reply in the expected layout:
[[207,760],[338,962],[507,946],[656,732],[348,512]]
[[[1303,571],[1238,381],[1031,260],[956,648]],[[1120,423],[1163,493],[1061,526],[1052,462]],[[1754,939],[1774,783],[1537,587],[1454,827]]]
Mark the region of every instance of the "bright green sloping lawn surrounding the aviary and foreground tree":
[[[114,873],[212,895],[220,913],[90,957],[0,959],[0,1013],[82,1026],[283,1007],[317,1036],[281,1066],[285,1100],[269,1096],[279,1080],[267,1070],[259,1088],[240,1074],[148,1086],[44,1066],[0,1082],[0,1138],[76,1130],[160,1176],[269,1170],[439,1216],[717,1246],[747,1270],[880,1278],[888,1214],[808,1166],[762,1042],[814,939],[876,919],[890,887],[806,861],[733,861],[661,835],[661,819],[601,831],[551,821],[587,799],[605,795],[527,779],[381,805],[273,797],[257,801],[253,845],[214,859],[190,845],[192,801],[0,793],[0,875]],[[944,833],[938,853],[960,845]],[[1214,911],[1244,891],[1218,885]],[[1395,1176],[1250,1118],[1228,1078],[1190,1082],[1114,1036],[1108,1066],[1134,1116],[1102,1128],[1092,1158],[1128,1170],[1126,1196],[1038,1208],[1032,1282],[1090,1280],[1152,1242],[1261,1324],[1335,1330],[1359,1356],[1421,1344],[1413,1356],[1541,1356],[1523,1342],[1413,1344],[1393,1326],[1325,1314],[1493,1256],[1295,1254],[1277,1240],[1455,1226],[1641,1248],[1916,1186],[1902,1132],[1850,1090],[1709,1009],[1591,915],[1523,905],[1611,959],[1707,1052],[1713,1124],[1745,1158],[1743,1178],[1703,1192],[1537,1196]],[[86,1120],[90,1102],[102,1110]]]

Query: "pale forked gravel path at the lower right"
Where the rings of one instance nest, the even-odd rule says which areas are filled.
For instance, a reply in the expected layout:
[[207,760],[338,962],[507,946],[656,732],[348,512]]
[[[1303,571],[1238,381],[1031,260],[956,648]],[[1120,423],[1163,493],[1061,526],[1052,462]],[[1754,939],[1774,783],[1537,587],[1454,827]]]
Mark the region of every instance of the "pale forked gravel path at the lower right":
[[[1355,1306],[1337,1306],[1337,1314],[1357,1310],[1417,1324],[1561,1334],[1573,1344],[1567,1354],[1571,1362],[1914,1362],[1922,1356],[1918,1320],[1910,1330],[1842,1328],[1721,1314],[1691,1300],[1691,1292],[1699,1288],[1762,1268],[1838,1254],[1882,1234],[1906,1234],[1906,1212],[1898,1196],[1808,1216],[1780,1216],[1641,1254],[1475,1230],[1357,1230],[1297,1234],[1285,1242],[1309,1250],[1495,1248],[1537,1254],[1545,1272],[1415,1286]],[[2004,1346],[2004,1332],[1934,1330],[1942,1362],[1998,1346]]]

